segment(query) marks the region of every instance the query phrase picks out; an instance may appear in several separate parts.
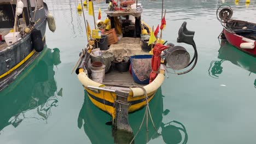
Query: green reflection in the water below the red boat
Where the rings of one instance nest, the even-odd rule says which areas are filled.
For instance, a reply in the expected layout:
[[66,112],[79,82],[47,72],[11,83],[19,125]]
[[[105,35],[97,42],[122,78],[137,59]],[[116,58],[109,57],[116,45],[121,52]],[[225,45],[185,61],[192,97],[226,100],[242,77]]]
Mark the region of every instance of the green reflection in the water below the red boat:
[[[230,61],[231,63],[241,67],[245,70],[248,70],[251,73],[256,74],[256,58],[247,55],[246,53],[237,50],[234,46],[230,45],[228,41],[222,39],[220,42],[220,49],[219,49],[219,61],[212,61],[210,64],[210,68],[208,69],[208,74],[218,79],[219,75],[223,72],[222,63],[225,61]],[[256,80],[254,82],[254,86]]]

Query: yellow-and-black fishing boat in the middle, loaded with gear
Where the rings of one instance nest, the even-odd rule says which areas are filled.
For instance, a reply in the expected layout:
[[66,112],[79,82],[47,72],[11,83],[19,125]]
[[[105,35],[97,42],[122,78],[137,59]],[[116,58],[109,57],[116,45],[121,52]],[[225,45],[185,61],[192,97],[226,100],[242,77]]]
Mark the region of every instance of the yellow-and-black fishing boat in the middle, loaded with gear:
[[[150,117],[148,103],[164,82],[166,65],[175,70],[187,68],[177,74],[188,73],[195,67],[195,32],[188,31],[187,22],[182,24],[178,32],[178,43],[194,47],[195,53],[190,61],[189,53],[184,47],[164,45],[161,35],[158,40],[160,42],[156,43],[154,40],[154,43],[149,44],[154,28],[150,29],[141,20],[142,7],[138,2],[127,7],[113,2],[105,13],[110,21],[106,22],[105,28],[92,29],[92,36],[94,32],[102,32],[102,29],[109,31],[98,38],[91,38],[88,34],[88,45],[80,53],[75,72],[92,103],[112,117],[113,128],[132,133],[128,113],[146,106],[147,117]],[[165,22],[164,17],[161,25]],[[88,23],[85,27],[88,27]],[[145,43],[146,47],[143,49]],[[192,63],[191,68],[188,68]]]

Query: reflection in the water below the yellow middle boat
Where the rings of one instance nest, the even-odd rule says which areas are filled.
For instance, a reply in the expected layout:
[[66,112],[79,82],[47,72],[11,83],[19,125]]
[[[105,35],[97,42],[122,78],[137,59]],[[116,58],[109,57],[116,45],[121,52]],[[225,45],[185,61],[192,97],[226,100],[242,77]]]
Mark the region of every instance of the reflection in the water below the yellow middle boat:
[[162,136],[165,143],[185,144],[188,141],[188,135],[183,124],[177,121],[166,124],[162,123],[163,117],[170,112],[170,110],[163,110],[163,97],[160,87],[154,99],[149,103],[150,112],[158,131],[154,129],[149,118],[148,131],[144,121],[138,135],[132,141],[141,126],[145,108],[129,115],[129,123],[134,135],[124,131],[114,131],[111,126],[112,124],[109,124],[109,121],[112,121],[110,116],[93,105],[85,92],[84,104],[78,117],[78,128],[81,129],[83,127],[91,143],[147,143]]

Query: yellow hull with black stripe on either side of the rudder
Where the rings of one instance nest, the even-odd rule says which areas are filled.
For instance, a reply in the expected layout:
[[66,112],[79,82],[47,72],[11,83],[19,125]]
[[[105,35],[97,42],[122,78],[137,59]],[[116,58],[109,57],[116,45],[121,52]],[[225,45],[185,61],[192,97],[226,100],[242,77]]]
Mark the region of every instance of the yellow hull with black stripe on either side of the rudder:
[[[115,118],[115,108],[113,107],[115,103],[115,99],[117,99],[117,95],[113,92],[106,92],[106,91],[91,91],[88,88],[85,88],[88,93],[88,97],[90,98],[91,102],[97,106],[99,109],[109,113],[110,116]],[[156,91],[155,91],[156,92]],[[147,94],[150,100],[153,99],[155,92]],[[130,96],[127,98],[128,103],[130,103],[129,112],[134,112],[136,110],[141,109],[146,105],[145,95],[141,97],[132,98],[132,92],[130,92]]]

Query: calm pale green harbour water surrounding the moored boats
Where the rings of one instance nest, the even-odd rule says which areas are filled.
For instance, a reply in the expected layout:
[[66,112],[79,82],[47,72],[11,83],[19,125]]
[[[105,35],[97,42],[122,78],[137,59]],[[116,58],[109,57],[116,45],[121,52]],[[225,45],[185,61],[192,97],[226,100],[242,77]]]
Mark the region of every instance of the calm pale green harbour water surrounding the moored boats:
[[[86,44],[78,1],[46,1],[54,14],[55,33],[46,30],[45,50],[24,73],[0,93],[0,143],[125,143],[105,123],[110,117],[88,100],[71,70]],[[235,19],[256,23],[256,2],[235,5]],[[183,21],[195,31],[199,52],[196,68],[185,75],[169,74],[150,103],[158,130],[143,124],[135,143],[255,143],[256,58],[217,39],[222,26],[216,19],[220,1],[166,1],[163,38],[175,45]],[[142,20],[160,23],[160,1],[142,1]],[[103,10],[106,4],[95,4]],[[86,19],[93,21],[86,11]],[[93,25],[90,25],[93,28]],[[192,48],[187,46],[190,52]],[[129,115],[133,131],[144,109]],[[114,135],[114,136],[113,136]],[[121,135],[122,136],[122,135]]]

